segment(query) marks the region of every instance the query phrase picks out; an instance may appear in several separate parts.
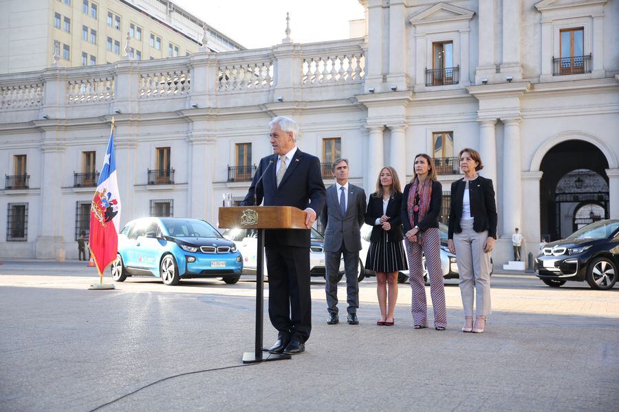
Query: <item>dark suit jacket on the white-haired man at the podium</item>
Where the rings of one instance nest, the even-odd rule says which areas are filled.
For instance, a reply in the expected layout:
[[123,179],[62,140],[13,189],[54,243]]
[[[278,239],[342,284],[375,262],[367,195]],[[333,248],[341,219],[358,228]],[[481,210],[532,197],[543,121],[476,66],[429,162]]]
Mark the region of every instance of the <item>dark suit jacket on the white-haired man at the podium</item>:
[[[260,159],[250,189],[241,205],[293,206],[298,209],[311,207],[320,216],[325,205],[325,184],[318,157],[296,149],[279,187],[275,177],[277,155]],[[261,179],[262,176],[262,179]],[[310,229],[268,229],[264,233],[265,246],[277,244],[294,247],[310,247]]]

